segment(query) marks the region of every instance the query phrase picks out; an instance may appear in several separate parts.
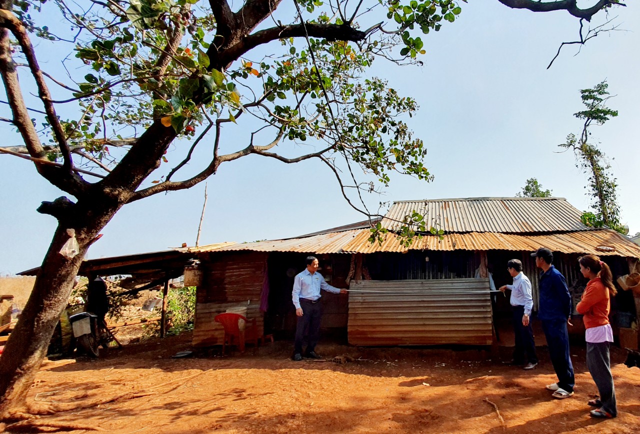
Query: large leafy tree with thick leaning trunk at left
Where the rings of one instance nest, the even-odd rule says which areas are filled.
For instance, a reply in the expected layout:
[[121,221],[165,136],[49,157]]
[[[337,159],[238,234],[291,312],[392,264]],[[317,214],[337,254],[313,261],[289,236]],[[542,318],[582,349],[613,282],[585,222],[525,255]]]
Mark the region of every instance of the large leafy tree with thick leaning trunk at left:
[[[618,4],[499,1],[533,12],[564,10],[580,22]],[[404,122],[415,100],[367,71],[376,58],[416,62],[424,54],[421,38],[454,22],[459,3],[1,0],[0,74],[8,102],[1,120],[17,128],[22,143],[0,151],[33,160],[38,174],[73,200],[38,208],[58,227],[4,350],[0,416],[28,410],[26,393],[79,265],[127,203],[193,187],[246,155],[320,159],[343,192],[354,187],[349,191],[356,193],[344,194],[349,203],[375,190],[372,180],[386,184],[391,171],[429,180],[422,141]],[[276,54],[265,55],[267,45]],[[59,53],[64,69],[43,70],[44,50]],[[37,106],[25,102],[30,91]],[[234,123],[250,134],[227,151],[240,140]],[[309,149],[295,146],[305,142],[315,149],[294,155]],[[201,165],[197,173],[173,180],[198,146],[206,147],[199,155],[207,160],[191,161]],[[165,153],[173,148],[184,157],[169,167]],[[357,178],[363,171],[365,178]],[[67,229],[78,243],[72,258],[60,254]]]

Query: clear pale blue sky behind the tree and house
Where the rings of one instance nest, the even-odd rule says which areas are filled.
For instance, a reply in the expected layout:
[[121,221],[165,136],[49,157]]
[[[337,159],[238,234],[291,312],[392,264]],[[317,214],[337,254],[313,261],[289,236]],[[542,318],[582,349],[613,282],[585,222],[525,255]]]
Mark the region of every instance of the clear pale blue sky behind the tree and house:
[[[586,176],[571,153],[557,153],[557,144],[580,132],[580,121],[572,116],[582,109],[579,89],[607,79],[617,95],[609,105],[620,116],[593,128],[593,134],[613,158],[622,220],[631,233],[640,231],[640,7],[629,4],[612,11],[624,31],[598,36],[577,56],[575,46],[564,47],[550,70],[559,44],[577,38],[578,21],[566,12],[510,10],[497,0],[464,4],[458,21],[424,37],[424,66],[399,68],[378,61],[375,74],[420,104],[408,122],[428,147],[427,165],[435,180],[393,176],[385,196],[369,196],[368,205],[515,196],[527,178],[536,177],[554,196],[586,210]],[[46,55],[44,67],[56,68],[60,54]],[[0,107],[0,116],[8,117],[6,108]],[[22,144],[12,128],[3,123],[0,129],[3,146]],[[237,142],[230,140],[227,150],[246,146]],[[0,274],[13,274],[42,262],[55,221],[36,208],[62,193],[40,178],[33,164],[8,155],[0,155],[0,182]],[[319,162],[285,165],[250,156],[224,164],[208,183],[200,244],[284,238],[362,219]],[[87,258],[195,244],[203,193],[204,183],[125,206]]]

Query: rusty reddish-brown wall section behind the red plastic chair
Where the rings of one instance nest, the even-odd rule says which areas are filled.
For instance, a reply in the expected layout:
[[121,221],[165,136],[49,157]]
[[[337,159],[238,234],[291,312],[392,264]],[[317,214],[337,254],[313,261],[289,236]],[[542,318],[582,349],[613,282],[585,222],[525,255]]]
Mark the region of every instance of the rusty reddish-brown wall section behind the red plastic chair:
[[229,307],[246,306],[247,318],[256,318],[258,336],[264,334],[260,295],[267,256],[264,252],[225,252],[200,258],[204,274],[196,291],[194,346],[221,345],[224,331],[213,318]]

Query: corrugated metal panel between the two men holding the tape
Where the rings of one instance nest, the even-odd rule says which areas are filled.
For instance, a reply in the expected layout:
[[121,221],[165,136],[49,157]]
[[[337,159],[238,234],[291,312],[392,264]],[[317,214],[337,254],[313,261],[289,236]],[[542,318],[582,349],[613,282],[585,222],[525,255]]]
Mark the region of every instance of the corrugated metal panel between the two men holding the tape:
[[491,345],[488,279],[358,281],[349,288],[351,345]]

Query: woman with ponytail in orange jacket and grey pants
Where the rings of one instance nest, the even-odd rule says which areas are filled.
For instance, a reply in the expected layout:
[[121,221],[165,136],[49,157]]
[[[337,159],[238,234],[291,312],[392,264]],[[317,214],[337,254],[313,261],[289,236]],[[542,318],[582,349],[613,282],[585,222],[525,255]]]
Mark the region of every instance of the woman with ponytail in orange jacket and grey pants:
[[611,419],[618,415],[616,390],[613,385],[609,362],[609,343],[613,342],[613,332],[609,324],[610,297],[616,295],[609,265],[598,256],[588,254],[578,260],[580,272],[589,279],[582,299],[575,307],[584,315],[587,341],[587,367],[591,378],[598,387],[600,399],[591,399],[589,405],[598,407],[591,410],[591,417]]

